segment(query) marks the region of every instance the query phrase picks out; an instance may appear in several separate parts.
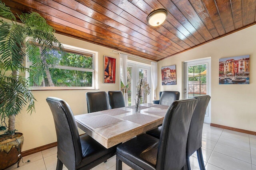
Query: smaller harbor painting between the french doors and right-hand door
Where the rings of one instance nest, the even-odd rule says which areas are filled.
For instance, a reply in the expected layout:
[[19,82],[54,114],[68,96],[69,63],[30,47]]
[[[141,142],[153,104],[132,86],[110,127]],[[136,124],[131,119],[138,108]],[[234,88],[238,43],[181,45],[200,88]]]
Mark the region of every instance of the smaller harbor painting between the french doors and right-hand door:
[[176,65],[162,67],[161,73],[162,85],[176,84]]

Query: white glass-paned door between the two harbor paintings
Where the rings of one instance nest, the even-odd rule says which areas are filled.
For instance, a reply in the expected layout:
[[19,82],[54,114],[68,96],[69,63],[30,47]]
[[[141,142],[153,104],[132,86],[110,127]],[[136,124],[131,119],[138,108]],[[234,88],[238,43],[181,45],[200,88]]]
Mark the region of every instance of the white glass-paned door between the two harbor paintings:
[[[193,98],[211,92],[211,60],[200,60],[184,63],[183,98]],[[211,123],[211,103],[206,109],[204,122]]]

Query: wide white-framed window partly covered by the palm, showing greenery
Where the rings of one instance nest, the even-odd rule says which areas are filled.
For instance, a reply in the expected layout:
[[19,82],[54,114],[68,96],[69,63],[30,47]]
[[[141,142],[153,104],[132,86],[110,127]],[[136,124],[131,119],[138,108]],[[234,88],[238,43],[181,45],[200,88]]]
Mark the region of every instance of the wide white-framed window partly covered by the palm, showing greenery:
[[[64,45],[66,53],[54,54],[56,64],[43,73],[42,84],[30,80],[32,90],[95,89],[95,68],[98,53]],[[97,62],[98,63],[98,62]],[[27,60],[27,67],[32,63]],[[26,77],[29,77],[27,74]]]

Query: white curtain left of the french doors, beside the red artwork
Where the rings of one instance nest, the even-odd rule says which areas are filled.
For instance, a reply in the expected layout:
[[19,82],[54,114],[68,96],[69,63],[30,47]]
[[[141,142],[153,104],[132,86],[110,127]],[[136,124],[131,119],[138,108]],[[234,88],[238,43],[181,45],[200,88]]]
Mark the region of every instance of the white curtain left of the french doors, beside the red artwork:
[[124,88],[124,103],[125,106],[128,106],[128,94],[127,94],[127,55],[120,53],[120,77],[121,81],[123,82]]

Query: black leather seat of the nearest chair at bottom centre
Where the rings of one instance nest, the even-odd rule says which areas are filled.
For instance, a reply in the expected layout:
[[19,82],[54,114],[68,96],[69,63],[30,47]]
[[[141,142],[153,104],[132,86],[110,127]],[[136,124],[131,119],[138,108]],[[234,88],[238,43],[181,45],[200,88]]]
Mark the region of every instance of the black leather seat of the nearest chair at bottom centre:
[[116,153],[124,156],[143,169],[155,170],[158,143],[159,139],[142,134],[119,145]]

